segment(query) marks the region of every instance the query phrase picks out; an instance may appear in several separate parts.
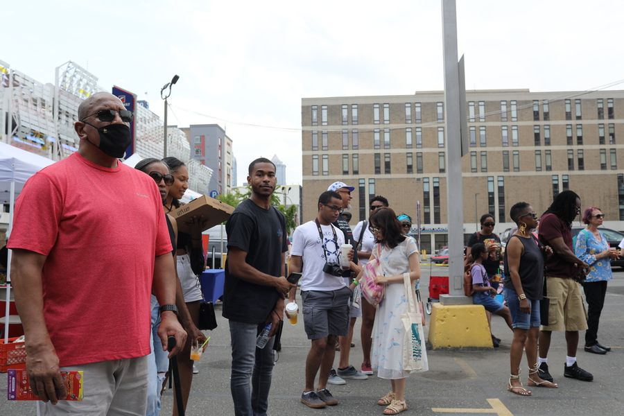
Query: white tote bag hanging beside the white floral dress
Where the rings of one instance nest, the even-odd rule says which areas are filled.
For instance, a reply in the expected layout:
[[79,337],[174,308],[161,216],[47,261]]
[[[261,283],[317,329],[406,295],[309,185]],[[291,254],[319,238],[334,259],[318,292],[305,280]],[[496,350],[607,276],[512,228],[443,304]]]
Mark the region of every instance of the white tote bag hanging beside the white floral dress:
[[401,314],[405,329],[403,368],[409,372],[424,372],[429,370],[429,363],[422,329],[422,315],[417,306],[409,273],[403,274],[403,283],[408,300],[407,310]]

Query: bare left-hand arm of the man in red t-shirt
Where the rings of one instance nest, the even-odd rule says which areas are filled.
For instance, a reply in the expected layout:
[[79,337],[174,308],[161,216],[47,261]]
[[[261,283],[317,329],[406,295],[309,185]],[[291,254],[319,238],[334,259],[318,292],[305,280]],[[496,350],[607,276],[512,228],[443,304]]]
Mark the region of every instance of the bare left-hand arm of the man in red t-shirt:
[[13,250],[11,285],[26,336],[26,370],[31,388],[42,401],[56,404],[60,397],[67,396],[67,390],[43,314],[42,269],[46,259],[43,254]]

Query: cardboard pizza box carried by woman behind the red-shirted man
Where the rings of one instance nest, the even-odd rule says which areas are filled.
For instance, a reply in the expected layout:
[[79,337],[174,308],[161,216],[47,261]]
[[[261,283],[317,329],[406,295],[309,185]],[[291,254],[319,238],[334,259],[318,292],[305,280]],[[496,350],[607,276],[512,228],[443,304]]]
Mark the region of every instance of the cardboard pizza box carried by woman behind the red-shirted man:
[[169,214],[177,221],[177,229],[181,232],[189,233],[191,229],[191,217],[202,216],[204,223],[202,231],[214,227],[227,220],[234,212],[234,207],[225,202],[202,195],[180,208],[172,210]]

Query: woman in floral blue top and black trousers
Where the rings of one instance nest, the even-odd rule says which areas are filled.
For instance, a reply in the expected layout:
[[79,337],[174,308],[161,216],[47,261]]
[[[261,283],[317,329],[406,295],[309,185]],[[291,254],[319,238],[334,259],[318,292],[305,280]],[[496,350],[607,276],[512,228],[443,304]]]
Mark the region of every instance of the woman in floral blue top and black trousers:
[[607,354],[610,347],[598,343],[598,322],[600,313],[605,304],[607,281],[613,279],[611,259],[618,259],[620,254],[615,248],[609,248],[609,243],[598,227],[603,225],[605,214],[600,208],[589,207],[583,214],[583,222],[587,224],[576,237],[574,252],[579,259],[589,264],[587,280],[583,284],[585,298],[589,309],[587,311],[587,331],[585,331],[585,351],[592,354]]

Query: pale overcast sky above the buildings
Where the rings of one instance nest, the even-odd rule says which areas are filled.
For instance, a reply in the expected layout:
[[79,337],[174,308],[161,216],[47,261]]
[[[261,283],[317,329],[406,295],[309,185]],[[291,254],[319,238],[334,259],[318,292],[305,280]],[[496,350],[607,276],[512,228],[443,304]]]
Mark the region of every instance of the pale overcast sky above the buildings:
[[[444,86],[440,0],[46,0],[1,10],[0,60],[40,82],[72,60],[162,116],[160,88],[177,73],[170,124],[224,126],[239,185],[252,159],[274,154],[287,182],[301,183],[302,97]],[[458,0],[457,11],[467,89],[576,91],[624,79],[623,1]]]

